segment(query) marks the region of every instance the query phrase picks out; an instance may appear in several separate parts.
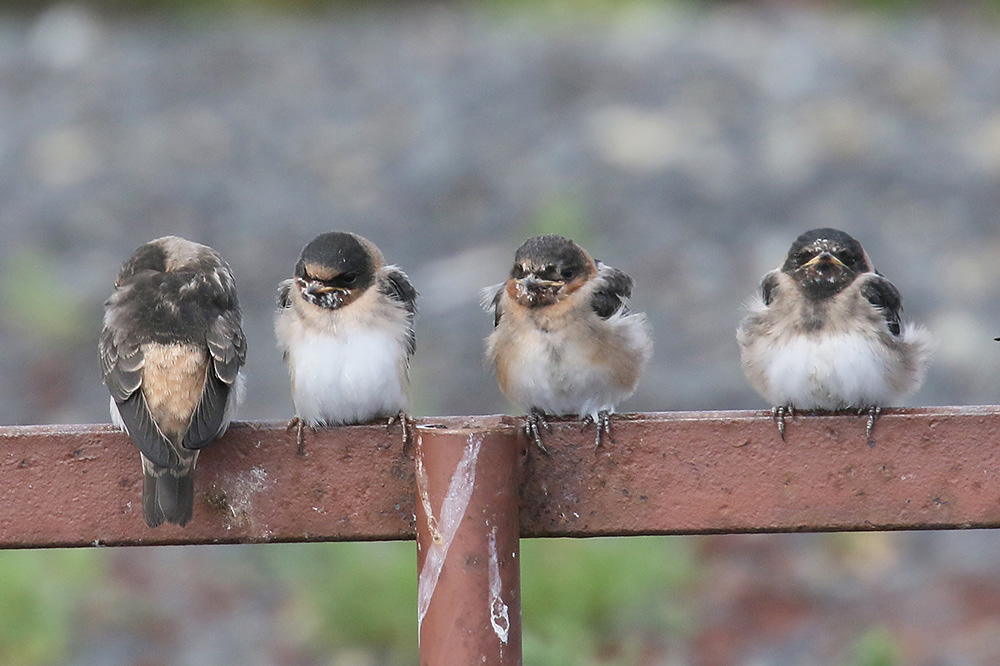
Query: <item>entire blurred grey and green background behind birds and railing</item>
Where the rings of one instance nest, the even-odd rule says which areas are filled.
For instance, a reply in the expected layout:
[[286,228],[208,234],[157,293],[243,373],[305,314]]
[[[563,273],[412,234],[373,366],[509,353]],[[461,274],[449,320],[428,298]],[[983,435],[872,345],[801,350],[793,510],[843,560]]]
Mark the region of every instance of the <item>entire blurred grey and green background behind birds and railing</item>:
[[[538,232],[636,278],[656,351],[624,411],[766,408],[734,328],[818,226],[937,335],[908,404],[1000,399],[995,0],[0,7],[0,423],[107,420],[102,302],[165,234],[232,265],[241,416],[287,419],[274,292],[332,229],[421,292],[417,415],[511,411],[477,292]],[[526,663],[997,664],[998,549],[528,541]],[[409,543],[4,552],[0,663],[410,664],[415,568]]]

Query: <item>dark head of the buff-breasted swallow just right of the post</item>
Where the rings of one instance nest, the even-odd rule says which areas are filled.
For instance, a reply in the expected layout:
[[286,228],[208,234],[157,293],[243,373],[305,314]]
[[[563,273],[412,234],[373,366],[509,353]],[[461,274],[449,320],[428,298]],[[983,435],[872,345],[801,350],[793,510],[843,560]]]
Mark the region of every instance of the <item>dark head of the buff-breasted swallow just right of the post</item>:
[[570,239],[533,236],[514,254],[508,290],[521,305],[541,307],[563,300],[596,273],[594,260]]

